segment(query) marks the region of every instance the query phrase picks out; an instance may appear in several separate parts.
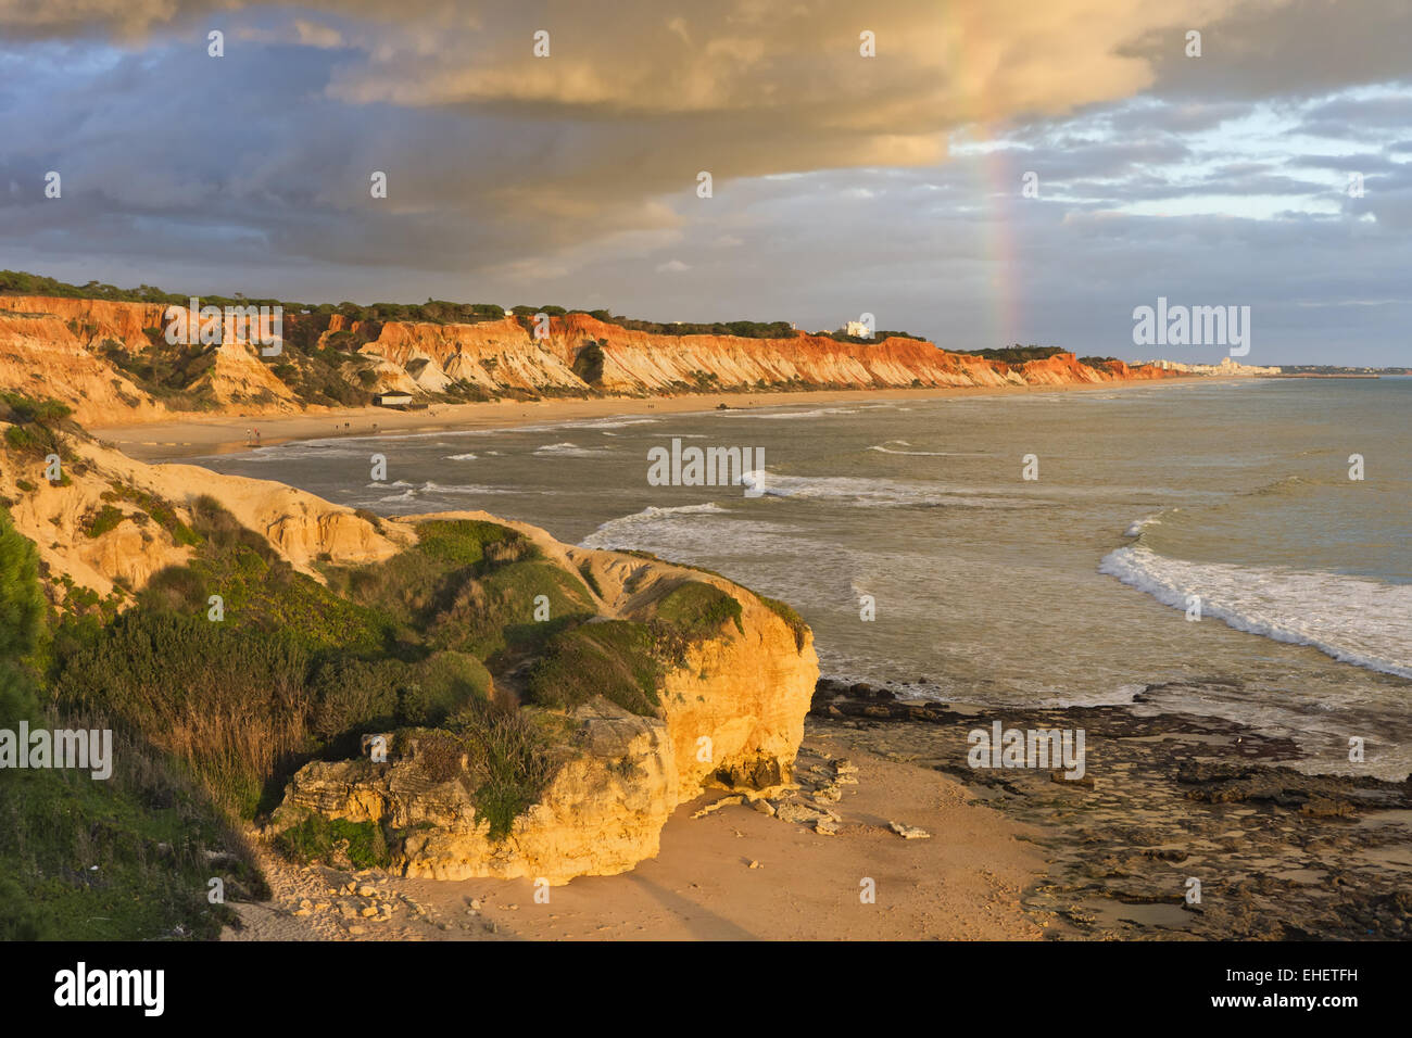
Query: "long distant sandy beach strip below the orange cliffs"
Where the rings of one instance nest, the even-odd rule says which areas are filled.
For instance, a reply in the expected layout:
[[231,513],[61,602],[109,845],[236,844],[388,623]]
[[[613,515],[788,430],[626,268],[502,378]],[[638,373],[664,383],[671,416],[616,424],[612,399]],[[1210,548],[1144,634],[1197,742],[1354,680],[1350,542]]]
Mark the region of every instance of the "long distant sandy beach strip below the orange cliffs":
[[[731,410],[786,407],[789,404],[851,404],[877,400],[945,400],[950,397],[1008,397],[1032,393],[1123,391],[1149,386],[1250,381],[1211,376],[1171,378],[1128,378],[1108,383],[1060,383],[1056,386],[952,386],[922,390],[801,390],[798,393],[706,393],[682,397],[593,397],[486,404],[436,404],[426,411],[393,411],[381,407],[339,408],[289,415],[185,414],[172,421],[127,422],[89,429],[130,458],[162,462],[205,455],[239,453],[254,446],[277,446],[335,436],[385,436],[418,432],[467,429],[513,429],[521,425],[556,424],[593,418],[640,417],[648,414],[692,414]],[[258,443],[247,442],[246,431],[258,429]]]

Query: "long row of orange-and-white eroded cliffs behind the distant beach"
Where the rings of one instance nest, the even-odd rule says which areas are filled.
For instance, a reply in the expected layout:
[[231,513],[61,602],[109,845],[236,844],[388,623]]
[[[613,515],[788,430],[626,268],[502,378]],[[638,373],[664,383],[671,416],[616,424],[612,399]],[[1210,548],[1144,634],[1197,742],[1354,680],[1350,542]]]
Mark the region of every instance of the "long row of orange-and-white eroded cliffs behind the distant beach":
[[[0,297],[0,384],[28,387],[62,400],[86,424],[120,424],[169,417],[162,401],[109,363],[99,346],[113,340],[141,356],[144,329],[162,328],[164,308],[148,304]],[[323,325],[306,322],[325,321]],[[301,326],[321,347],[357,350],[371,381],[347,366],[340,376],[374,393],[432,395],[452,384],[505,393],[613,395],[678,394],[699,390],[905,388],[945,386],[1058,386],[1171,377],[1155,364],[1080,364],[1072,353],[1005,364],[947,353],[916,339],[836,342],[822,335],[743,339],[719,335],[654,335],[610,325],[587,314],[549,321],[535,339],[515,318],[473,325],[359,322],[342,315],[287,314],[287,339]],[[312,332],[321,330],[316,336]],[[271,367],[292,356],[265,359],[243,342],[226,342],[215,364],[185,391],[216,410],[246,414],[311,407]],[[40,381],[44,386],[40,386]]]

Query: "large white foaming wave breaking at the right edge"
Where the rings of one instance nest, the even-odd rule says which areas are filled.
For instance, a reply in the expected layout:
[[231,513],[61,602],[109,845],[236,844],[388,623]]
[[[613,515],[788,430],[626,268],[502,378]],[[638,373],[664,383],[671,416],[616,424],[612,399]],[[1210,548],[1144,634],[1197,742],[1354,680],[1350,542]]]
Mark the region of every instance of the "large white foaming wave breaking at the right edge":
[[1165,606],[1274,641],[1310,645],[1340,662],[1412,678],[1412,585],[1340,573],[1220,562],[1187,562],[1141,544],[1104,556],[1099,572],[1147,592]]

